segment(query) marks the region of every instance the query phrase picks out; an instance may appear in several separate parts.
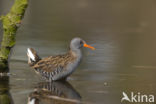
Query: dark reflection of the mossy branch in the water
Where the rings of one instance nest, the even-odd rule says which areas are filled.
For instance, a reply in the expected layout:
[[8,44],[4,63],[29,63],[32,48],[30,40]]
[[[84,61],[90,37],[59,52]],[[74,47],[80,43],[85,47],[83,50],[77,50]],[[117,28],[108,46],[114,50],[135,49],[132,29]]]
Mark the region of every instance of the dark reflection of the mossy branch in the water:
[[13,99],[9,92],[9,77],[0,77],[0,104],[13,104]]

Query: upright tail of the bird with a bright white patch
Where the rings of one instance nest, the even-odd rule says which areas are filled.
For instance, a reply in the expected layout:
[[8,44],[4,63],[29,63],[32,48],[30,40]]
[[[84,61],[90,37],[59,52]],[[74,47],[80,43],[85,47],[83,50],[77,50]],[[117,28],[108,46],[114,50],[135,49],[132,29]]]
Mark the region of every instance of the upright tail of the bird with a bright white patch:
[[28,64],[34,66],[41,58],[38,56],[37,52],[33,48],[27,49]]

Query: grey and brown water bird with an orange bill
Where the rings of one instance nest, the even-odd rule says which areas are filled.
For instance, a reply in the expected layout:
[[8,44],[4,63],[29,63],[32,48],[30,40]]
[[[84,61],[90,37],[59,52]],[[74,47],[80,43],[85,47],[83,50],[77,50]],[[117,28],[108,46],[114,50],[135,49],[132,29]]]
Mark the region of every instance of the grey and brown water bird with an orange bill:
[[47,81],[66,80],[82,59],[82,47],[95,50],[83,39],[75,37],[71,40],[69,50],[65,54],[41,58],[33,48],[27,48],[28,64],[35,72]]

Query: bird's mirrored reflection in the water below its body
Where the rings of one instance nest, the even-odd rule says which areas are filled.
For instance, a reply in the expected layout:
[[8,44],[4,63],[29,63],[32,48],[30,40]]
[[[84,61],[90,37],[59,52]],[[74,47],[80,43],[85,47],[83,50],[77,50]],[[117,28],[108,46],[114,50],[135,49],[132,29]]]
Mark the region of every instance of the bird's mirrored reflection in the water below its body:
[[28,104],[79,104],[81,96],[68,82],[42,82],[29,95]]

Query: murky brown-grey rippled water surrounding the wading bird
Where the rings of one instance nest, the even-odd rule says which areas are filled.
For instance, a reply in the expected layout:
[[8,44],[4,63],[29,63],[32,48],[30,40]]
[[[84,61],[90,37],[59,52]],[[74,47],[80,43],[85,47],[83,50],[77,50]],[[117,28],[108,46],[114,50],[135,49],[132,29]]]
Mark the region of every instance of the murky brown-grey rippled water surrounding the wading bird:
[[[121,104],[123,91],[156,94],[154,0],[29,1],[10,62],[15,104],[26,104],[30,98],[42,104]],[[11,5],[0,0],[0,14]],[[43,82],[27,65],[26,48],[35,48],[42,57],[61,54],[73,37],[96,50],[83,49],[83,61],[68,83]],[[53,93],[40,90],[45,87]],[[44,96],[57,94],[64,99]]]

